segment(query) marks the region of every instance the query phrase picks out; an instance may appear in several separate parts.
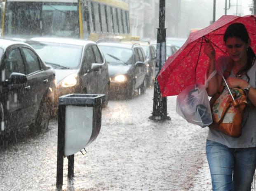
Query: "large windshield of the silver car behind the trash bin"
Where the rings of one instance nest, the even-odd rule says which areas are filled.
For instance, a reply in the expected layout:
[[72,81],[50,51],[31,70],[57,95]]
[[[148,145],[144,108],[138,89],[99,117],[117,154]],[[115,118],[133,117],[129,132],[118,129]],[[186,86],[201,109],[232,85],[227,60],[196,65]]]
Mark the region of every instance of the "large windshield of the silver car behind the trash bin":
[[80,64],[82,46],[61,43],[28,42],[46,64],[75,69]]

